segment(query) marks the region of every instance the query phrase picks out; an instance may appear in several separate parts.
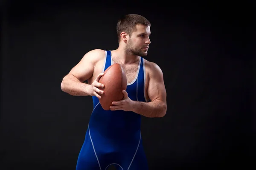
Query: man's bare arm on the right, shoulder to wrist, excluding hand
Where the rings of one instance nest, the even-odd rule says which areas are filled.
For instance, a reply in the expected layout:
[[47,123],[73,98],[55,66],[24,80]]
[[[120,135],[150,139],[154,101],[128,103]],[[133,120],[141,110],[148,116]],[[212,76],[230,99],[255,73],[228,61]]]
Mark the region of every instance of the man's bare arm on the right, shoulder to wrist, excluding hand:
[[150,69],[147,92],[151,102],[133,101],[132,111],[146,117],[163,117],[167,110],[163,73],[155,63]]

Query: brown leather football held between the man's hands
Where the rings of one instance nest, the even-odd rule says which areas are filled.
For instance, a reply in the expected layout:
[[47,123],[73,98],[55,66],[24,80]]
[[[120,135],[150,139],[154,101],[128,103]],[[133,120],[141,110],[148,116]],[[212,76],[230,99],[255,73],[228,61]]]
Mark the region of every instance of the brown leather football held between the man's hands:
[[109,66],[104,71],[104,75],[99,79],[99,83],[104,85],[104,88],[99,88],[104,91],[103,94],[99,94],[102,96],[99,99],[99,103],[104,110],[108,111],[113,101],[123,99],[124,94],[122,90],[126,91],[127,88],[127,79],[122,66],[118,63]]

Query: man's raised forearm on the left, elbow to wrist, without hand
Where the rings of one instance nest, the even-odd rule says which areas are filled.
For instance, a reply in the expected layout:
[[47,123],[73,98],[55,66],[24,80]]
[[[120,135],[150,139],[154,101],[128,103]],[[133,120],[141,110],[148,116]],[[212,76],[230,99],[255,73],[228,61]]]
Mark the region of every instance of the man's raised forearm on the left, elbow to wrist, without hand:
[[67,75],[61,82],[61,90],[73,96],[90,96],[90,85],[80,82],[73,75]]

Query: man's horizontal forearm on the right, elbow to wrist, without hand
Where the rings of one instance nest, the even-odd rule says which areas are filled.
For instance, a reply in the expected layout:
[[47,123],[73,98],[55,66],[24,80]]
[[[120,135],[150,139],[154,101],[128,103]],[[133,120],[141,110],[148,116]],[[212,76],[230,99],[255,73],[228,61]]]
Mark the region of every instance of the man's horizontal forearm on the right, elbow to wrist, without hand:
[[145,117],[163,117],[166,114],[167,106],[163,101],[152,102],[134,101],[132,111]]

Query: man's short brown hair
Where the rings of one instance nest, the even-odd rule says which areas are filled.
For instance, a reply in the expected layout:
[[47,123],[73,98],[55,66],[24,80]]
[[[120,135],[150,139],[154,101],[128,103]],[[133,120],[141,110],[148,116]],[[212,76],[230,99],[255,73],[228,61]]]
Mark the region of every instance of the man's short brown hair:
[[127,14],[121,17],[116,25],[118,42],[120,41],[121,32],[124,31],[131,36],[132,32],[136,31],[136,26],[138,24],[144,26],[151,26],[151,23],[145,17],[138,14]]

